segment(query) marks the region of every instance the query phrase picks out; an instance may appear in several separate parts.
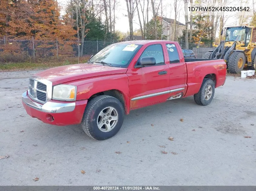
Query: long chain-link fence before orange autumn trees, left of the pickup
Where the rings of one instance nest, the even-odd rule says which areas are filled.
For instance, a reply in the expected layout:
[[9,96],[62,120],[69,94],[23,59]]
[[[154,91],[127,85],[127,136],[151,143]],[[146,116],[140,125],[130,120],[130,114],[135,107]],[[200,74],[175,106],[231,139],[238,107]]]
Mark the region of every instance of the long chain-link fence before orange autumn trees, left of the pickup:
[[68,40],[17,40],[0,39],[0,62],[25,62],[38,58],[79,58],[96,54],[106,46],[116,43],[98,39]]

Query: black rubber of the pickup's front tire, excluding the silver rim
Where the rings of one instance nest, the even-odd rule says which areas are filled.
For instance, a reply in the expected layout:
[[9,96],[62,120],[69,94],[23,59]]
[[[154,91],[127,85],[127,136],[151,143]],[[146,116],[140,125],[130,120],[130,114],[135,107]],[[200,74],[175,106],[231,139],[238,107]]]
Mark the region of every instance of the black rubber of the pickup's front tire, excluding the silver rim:
[[[108,132],[98,128],[98,115],[106,107],[114,107],[118,113],[115,127]],[[115,97],[101,95],[89,101],[85,108],[81,126],[84,132],[96,140],[105,140],[113,137],[120,130],[124,121],[125,111],[122,103]]]

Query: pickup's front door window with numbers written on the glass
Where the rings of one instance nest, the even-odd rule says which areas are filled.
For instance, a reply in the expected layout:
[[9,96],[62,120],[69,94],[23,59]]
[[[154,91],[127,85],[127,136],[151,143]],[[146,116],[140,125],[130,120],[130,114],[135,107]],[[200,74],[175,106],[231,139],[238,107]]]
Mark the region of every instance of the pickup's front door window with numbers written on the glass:
[[165,64],[163,48],[161,44],[149,45],[141,54],[139,60],[143,57],[154,57],[156,65]]

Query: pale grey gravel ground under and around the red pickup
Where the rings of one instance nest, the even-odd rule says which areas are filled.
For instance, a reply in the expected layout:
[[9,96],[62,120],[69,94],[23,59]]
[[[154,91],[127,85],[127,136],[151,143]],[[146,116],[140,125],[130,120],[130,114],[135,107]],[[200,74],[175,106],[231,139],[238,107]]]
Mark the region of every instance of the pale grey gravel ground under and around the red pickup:
[[26,114],[36,72],[0,73],[0,185],[256,185],[255,79],[228,76],[205,107],[187,97],[131,111],[95,141]]

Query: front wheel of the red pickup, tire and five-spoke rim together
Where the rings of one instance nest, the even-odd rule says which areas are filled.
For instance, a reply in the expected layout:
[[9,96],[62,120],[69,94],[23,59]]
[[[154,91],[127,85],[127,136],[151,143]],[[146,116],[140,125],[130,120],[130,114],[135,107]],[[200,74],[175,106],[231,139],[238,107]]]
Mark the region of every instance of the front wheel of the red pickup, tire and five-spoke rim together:
[[124,107],[118,99],[101,95],[89,101],[81,125],[91,138],[105,140],[117,134],[124,115]]

